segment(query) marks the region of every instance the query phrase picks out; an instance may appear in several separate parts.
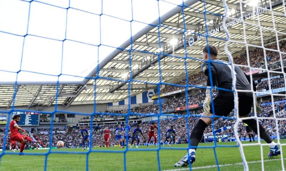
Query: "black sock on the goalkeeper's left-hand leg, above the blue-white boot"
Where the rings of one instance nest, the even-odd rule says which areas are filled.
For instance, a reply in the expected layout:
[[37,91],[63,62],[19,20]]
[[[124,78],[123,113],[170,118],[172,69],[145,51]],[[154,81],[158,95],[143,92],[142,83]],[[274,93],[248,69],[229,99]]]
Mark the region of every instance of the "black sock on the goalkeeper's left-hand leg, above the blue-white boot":
[[195,128],[193,129],[190,135],[191,146],[193,146],[192,149],[194,150],[197,149],[198,144],[200,143],[200,140],[203,137],[203,132],[207,126],[208,124],[206,124],[203,120],[199,119],[199,121],[197,122]]

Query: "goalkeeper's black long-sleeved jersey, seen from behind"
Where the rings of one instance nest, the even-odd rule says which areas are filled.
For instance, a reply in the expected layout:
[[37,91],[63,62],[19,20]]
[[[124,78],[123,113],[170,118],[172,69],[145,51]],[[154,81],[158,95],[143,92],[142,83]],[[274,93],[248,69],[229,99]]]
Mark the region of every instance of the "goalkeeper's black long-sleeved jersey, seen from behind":
[[[201,66],[203,73],[209,75],[208,62],[204,62]],[[232,88],[232,76],[231,76],[231,65],[227,61],[221,61],[213,59],[210,63],[211,72],[216,73],[217,83],[214,83],[219,88],[229,89]],[[251,85],[243,71],[238,67],[234,66],[236,75],[236,89],[237,90],[251,90]],[[219,96],[233,96],[232,91],[219,90]],[[238,95],[252,96],[251,92],[239,92]]]

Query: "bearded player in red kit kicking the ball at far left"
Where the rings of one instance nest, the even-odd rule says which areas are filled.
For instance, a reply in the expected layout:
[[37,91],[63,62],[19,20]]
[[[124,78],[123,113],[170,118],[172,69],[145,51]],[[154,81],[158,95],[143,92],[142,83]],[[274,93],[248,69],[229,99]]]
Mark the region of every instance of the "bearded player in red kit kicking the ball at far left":
[[18,141],[19,143],[21,143],[20,145],[20,153],[19,156],[21,155],[25,155],[23,153],[23,150],[25,148],[26,142],[33,142],[33,143],[37,143],[38,141],[33,141],[28,135],[21,135],[18,132],[18,129],[21,130],[23,133],[27,133],[24,129],[22,129],[20,126],[18,126],[18,122],[20,121],[21,115],[14,115],[13,116],[13,120],[10,123],[10,130],[11,130],[11,144],[15,141]]

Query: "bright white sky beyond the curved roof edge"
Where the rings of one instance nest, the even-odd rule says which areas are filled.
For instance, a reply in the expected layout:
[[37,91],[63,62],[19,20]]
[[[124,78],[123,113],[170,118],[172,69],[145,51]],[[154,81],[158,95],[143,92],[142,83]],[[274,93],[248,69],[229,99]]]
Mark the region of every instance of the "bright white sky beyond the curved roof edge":
[[164,21],[182,3],[39,1],[0,1],[1,85],[85,84],[98,64],[101,68],[130,45],[131,35],[138,39],[158,25],[159,12]]

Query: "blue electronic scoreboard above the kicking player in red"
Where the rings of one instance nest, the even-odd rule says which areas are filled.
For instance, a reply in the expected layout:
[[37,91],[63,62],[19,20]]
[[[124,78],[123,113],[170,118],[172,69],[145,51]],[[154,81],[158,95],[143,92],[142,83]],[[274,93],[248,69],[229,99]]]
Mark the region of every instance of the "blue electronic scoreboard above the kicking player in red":
[[[21,115],[19,126],[38,126],[40,120],[40,113],[38,112],[12,112],[12,118],[14,115]],[[11,119],[12,119],[11,118]]]

